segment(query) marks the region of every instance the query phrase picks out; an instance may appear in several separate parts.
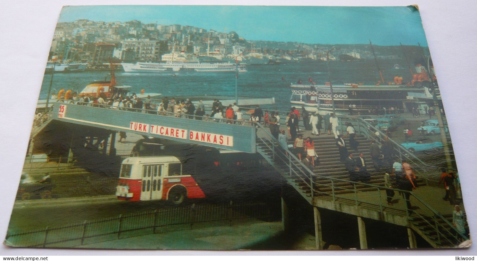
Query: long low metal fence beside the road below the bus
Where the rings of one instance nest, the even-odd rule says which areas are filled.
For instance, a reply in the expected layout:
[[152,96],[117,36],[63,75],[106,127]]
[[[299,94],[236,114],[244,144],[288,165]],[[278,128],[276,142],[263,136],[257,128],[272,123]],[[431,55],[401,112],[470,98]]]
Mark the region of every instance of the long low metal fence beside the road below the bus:
[[195,205],[119,215],[95,221],[46,227],[7,234],[5,242],[17,247],[73,247],[102,241],[174,230],[192,230],[194,224],[222,221],[270,220],[270,208],[261,202]]

